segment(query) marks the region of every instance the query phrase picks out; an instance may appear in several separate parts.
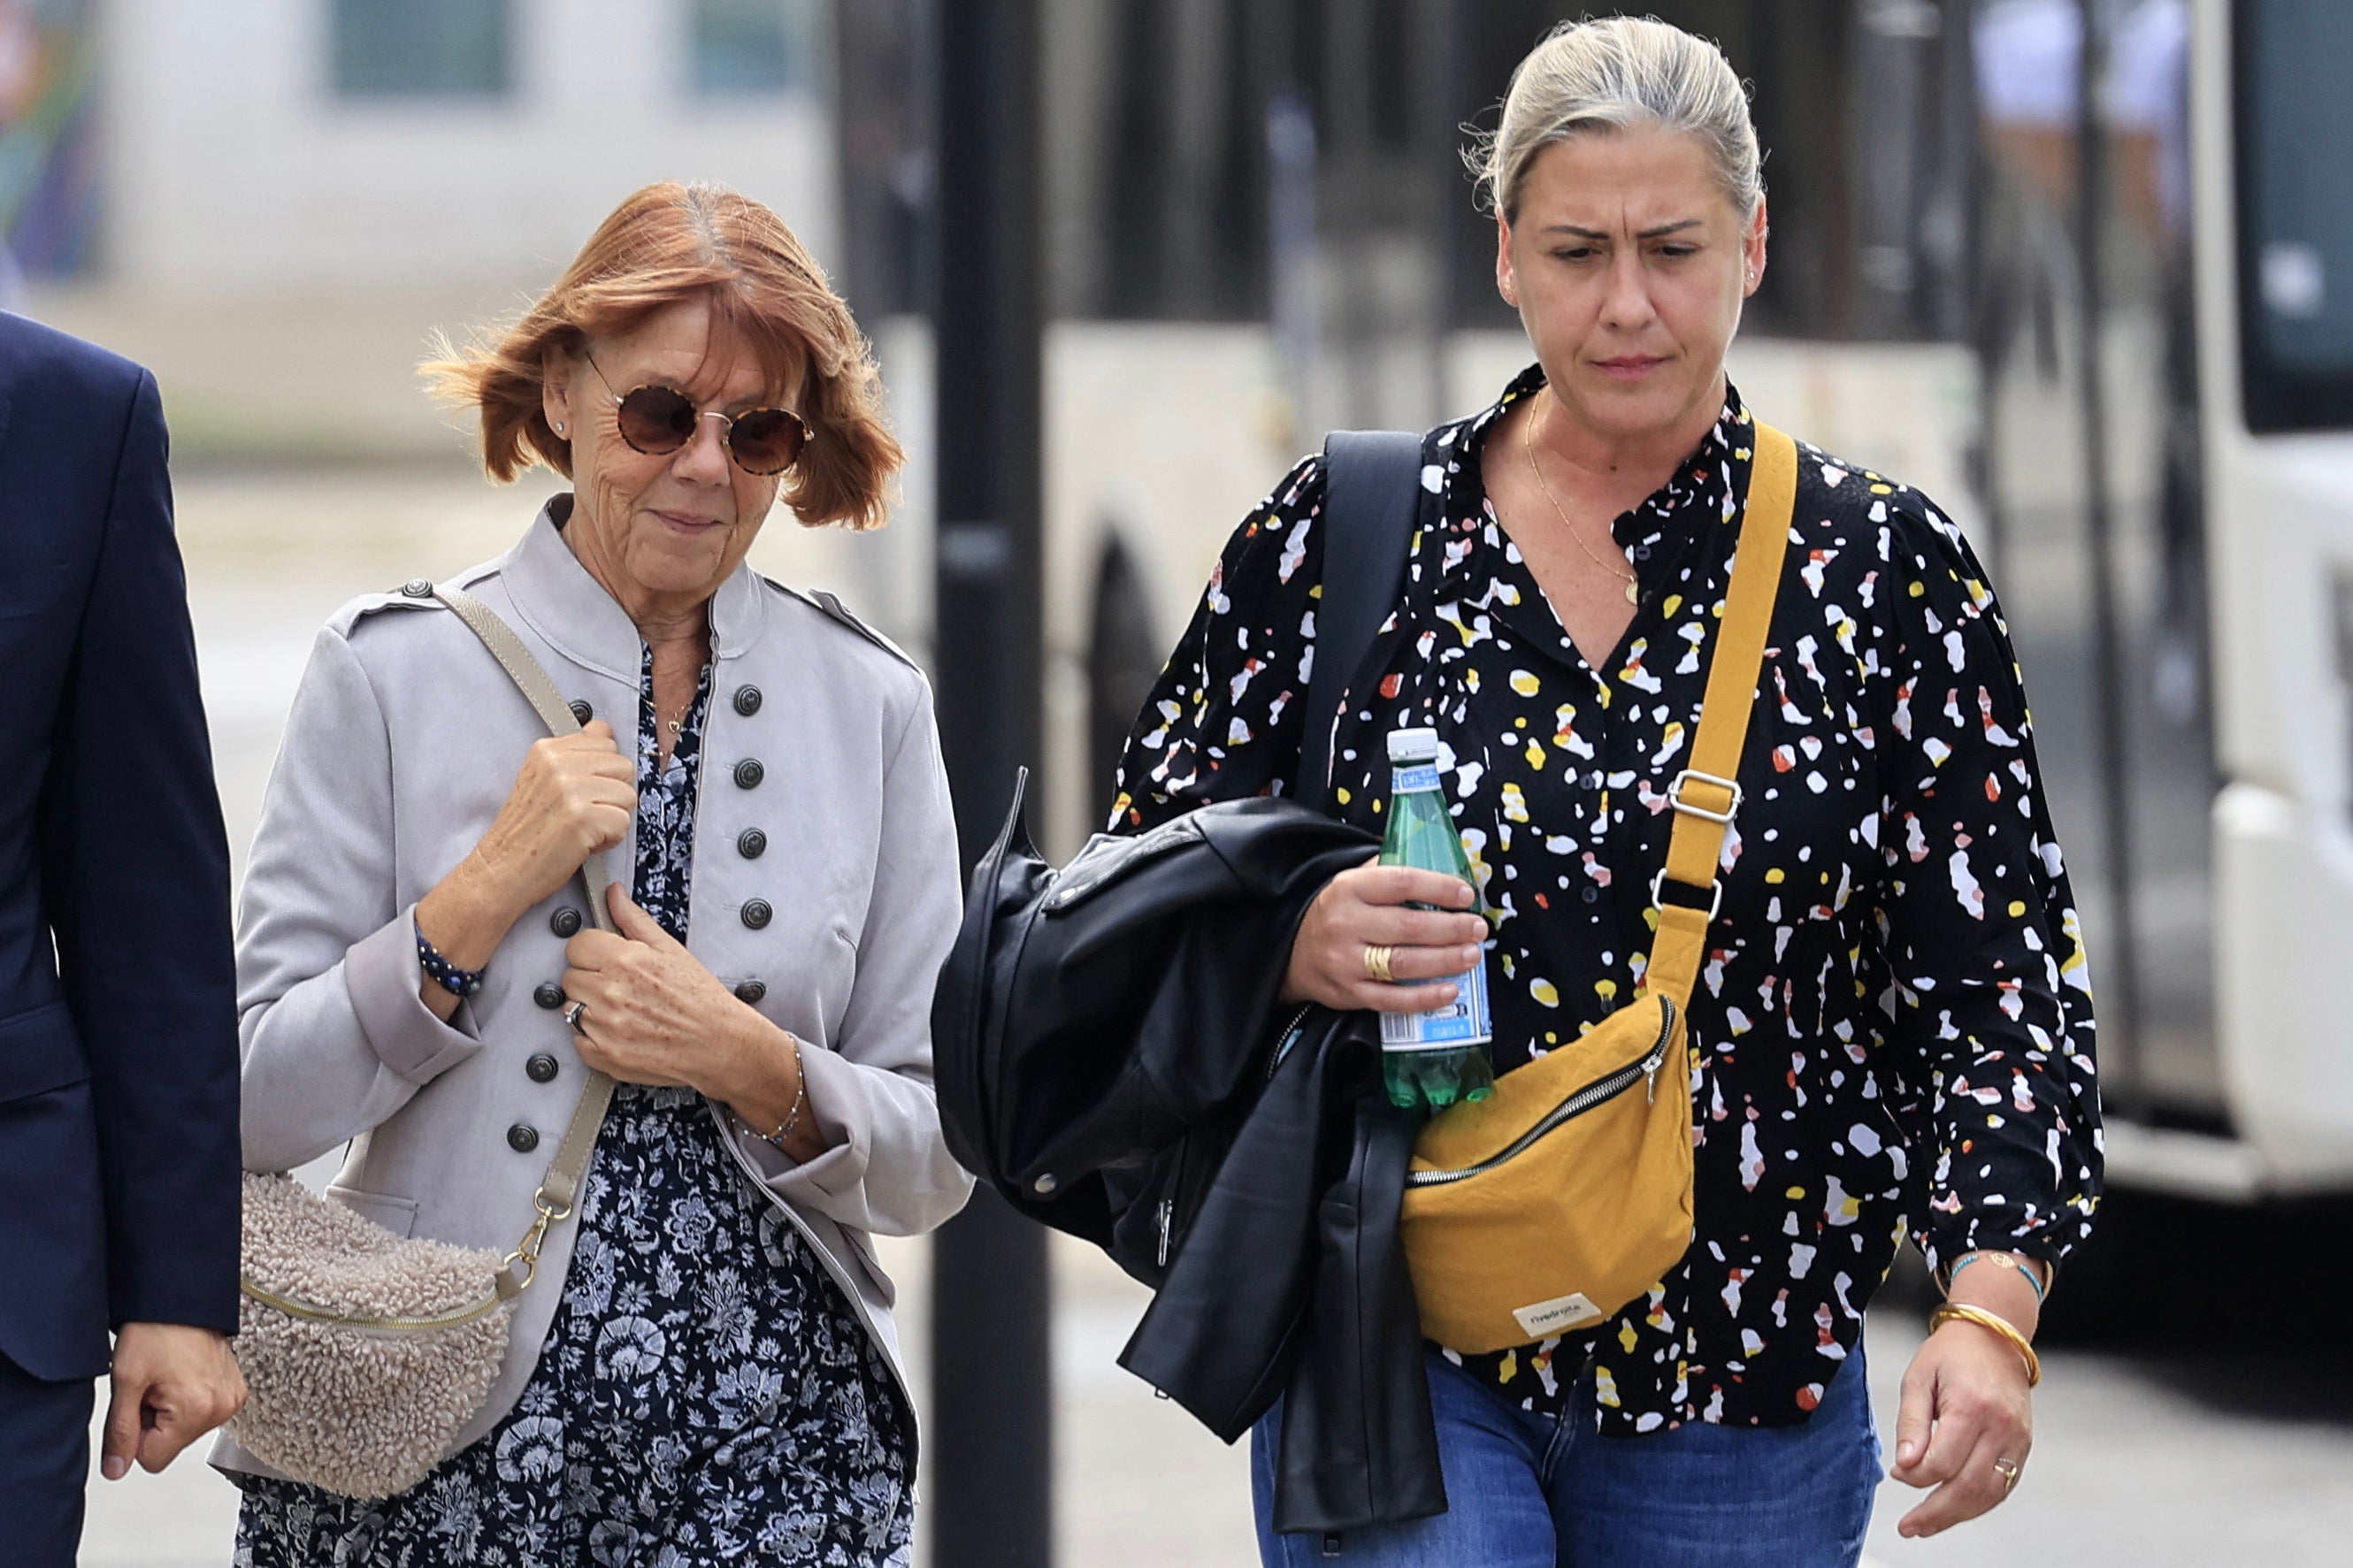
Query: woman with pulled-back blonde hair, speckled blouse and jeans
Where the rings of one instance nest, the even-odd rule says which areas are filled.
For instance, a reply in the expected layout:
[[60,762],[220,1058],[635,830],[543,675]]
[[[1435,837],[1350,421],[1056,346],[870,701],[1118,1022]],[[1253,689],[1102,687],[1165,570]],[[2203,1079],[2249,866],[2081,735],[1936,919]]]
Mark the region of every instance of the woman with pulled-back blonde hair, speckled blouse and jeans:
[[[1737,75],[1659,21],[1546,38],[1482,183],[1537,364],[1424,440],[1424,524],[1329,780],[1379,832],[1384,736],[1435,726],[1497,924],[1449,879],[1351,870],[1301,922],[1282,990],[1421,1011],[1485,961],[1511,1070],[1645,978],[1753,468],[1725,348],[1767,216]],[[1325,745],[1332,712],[1304,701],[1332,609],[1322,501],[1308,458],[1228,543],[1129,741],[1118,832],[1292,792],[1304,745]],[[1904,1378],[1894,1474],[1934,1486],[1904,1533],[1984,1514],[2024,1474],[2038,1305],[2099,1185],[2073,893],[1967,541],[1812,447],[1729,799],[1715,886],[1689,889],[1713,919],[1682,1262],[1574,1333],[1431,1347],[1440,1516],[1278,1535],[1278,1403],[1254,1434],[1268,1563],[1854,1563],[1880,1481],[1864,1309],[1906,1232],[1951,1307]]]

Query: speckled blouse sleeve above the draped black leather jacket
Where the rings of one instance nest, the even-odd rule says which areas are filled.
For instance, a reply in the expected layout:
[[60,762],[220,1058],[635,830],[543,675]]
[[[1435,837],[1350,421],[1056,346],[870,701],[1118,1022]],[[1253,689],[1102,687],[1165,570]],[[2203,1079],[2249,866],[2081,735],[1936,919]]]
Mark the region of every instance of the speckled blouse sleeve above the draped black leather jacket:
[[1322,491],[1318,454],[1226,541],[1127,738],[1111,832],[1144,832],[1209,802],[1289,790],[1315,668]]

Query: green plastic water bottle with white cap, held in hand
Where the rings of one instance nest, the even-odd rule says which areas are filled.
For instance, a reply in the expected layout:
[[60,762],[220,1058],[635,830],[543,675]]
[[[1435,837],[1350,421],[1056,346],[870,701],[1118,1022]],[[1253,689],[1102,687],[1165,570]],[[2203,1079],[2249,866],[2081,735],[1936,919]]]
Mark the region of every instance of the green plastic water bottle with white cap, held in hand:
[[[1435,729],[1388,733],[1388,780],[1381,865],[1461,877],[1478,905],[1471,856],[1464,853],[1445,792],[1438,788]],[[1457,1100],[1485,1100],[1494,1093],[1494,1065],[1487,1060],[1494,1030],[1487,1018],[1485,957],[1468,973],[1454,976],[1454,1001],[1433,1013],[1381,1013],[1381,1081],[1391,1105],[1445,1110]]]

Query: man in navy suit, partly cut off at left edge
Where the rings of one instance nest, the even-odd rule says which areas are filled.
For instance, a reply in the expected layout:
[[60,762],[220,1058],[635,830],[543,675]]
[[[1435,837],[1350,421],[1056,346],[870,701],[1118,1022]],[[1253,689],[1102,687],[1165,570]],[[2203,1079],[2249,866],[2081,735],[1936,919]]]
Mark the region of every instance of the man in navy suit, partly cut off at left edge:
[[5,313],[0,757],[0,1559],[49,1568],[94,1378],[108,1479],[245,1399],[238,1020],[155,378]]

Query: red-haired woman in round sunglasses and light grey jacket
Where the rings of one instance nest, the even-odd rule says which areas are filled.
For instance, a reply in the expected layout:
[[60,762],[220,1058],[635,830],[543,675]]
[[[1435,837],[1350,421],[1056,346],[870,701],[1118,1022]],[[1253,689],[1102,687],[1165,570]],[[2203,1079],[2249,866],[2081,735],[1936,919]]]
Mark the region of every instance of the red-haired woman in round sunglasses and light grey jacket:
[[[456,583],[586,729],[548,738],[426,583],[327,623],[245,886],[245,1164],[348,1143],[344,1204],[504,1248],[584,1072],[619,1091],[452,1453],[362,1502],[224,1443],[235,1561],[906,1563],[868,1234],[969,1192],[929,1084],[955,830],[925,677],[744,564],[779,498],[882,520],[866,343],[774,212],[649,186],[433,374],[494,480],[572,482]],[[614,849],[619,936],[574,891]]]

